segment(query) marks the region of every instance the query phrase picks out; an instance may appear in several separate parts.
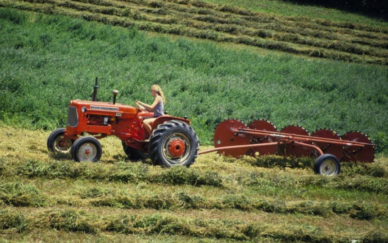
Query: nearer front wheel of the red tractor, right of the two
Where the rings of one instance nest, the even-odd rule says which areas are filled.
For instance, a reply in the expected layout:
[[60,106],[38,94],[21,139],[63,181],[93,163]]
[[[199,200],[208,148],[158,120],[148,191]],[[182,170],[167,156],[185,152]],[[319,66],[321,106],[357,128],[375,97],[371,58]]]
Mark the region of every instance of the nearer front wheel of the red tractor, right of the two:
[[71,146],[71,156],[77,162],[100,160],[102,155],[102,148],[100,142],[90,136],[85,136],[77,139],[73,146]]

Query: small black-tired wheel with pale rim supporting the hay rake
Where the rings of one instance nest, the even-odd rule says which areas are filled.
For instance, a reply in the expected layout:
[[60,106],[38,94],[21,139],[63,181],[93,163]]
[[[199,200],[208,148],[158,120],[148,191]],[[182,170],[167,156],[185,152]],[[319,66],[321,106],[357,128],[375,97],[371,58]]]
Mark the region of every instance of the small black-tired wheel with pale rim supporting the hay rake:
[[319,156],[314,162],[314,172],[316,174],[334,176],[341,172],[341,165],[336,156],[324,154]]

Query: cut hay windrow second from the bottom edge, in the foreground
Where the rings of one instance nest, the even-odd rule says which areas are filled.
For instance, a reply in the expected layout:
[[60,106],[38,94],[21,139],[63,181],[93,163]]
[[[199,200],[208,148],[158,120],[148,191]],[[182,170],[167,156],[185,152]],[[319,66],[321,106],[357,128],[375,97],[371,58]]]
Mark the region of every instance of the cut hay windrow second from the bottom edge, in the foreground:
[[[48,188],[46,188],[48,190]],[[45,191],[46,191],[45,190]],[[55,190],[55,189],[52,189]],[[0,186],[1,204],[15,207],[42,207],[48,205],[69,206],[107,206],[129,209],[228,209],[261,210],[273,213],[302,213],[327,217],[331,214],[346,214],[360,220],[385,219],[388,208],[384,205],[370,203],[345,203],[337,201],[307,201],[292,202],[275,200],[266,197],[252,197],[243,194],[229,194],[220,191],[222,196],[202,196],[186,191],[152,191],[152,190],[115,190],[108,186],[81,187],[72,195],[47,196],[37,190],[31,183],[4,183]],[[81,198],[81,199],[80,199]]]

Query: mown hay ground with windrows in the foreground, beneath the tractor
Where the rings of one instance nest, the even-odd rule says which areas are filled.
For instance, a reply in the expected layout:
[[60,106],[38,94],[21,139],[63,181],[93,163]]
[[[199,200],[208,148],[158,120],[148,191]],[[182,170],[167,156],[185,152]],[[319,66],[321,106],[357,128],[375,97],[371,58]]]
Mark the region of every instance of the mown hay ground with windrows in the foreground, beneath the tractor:
[[276,156],[163,169],[128,161],[115,138],[97,163],[50,156],[48,136],[0,126],[1,242],[388,241],[385,157],[335,178]]

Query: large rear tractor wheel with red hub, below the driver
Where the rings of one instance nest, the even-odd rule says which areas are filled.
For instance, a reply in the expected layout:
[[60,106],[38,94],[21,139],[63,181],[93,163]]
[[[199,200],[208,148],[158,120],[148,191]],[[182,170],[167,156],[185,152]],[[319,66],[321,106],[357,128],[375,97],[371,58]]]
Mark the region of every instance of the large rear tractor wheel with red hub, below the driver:
[[154,165],[189,167],[198,156],[199,141],[189,124],[172,120],[152,131],[148,146]]

